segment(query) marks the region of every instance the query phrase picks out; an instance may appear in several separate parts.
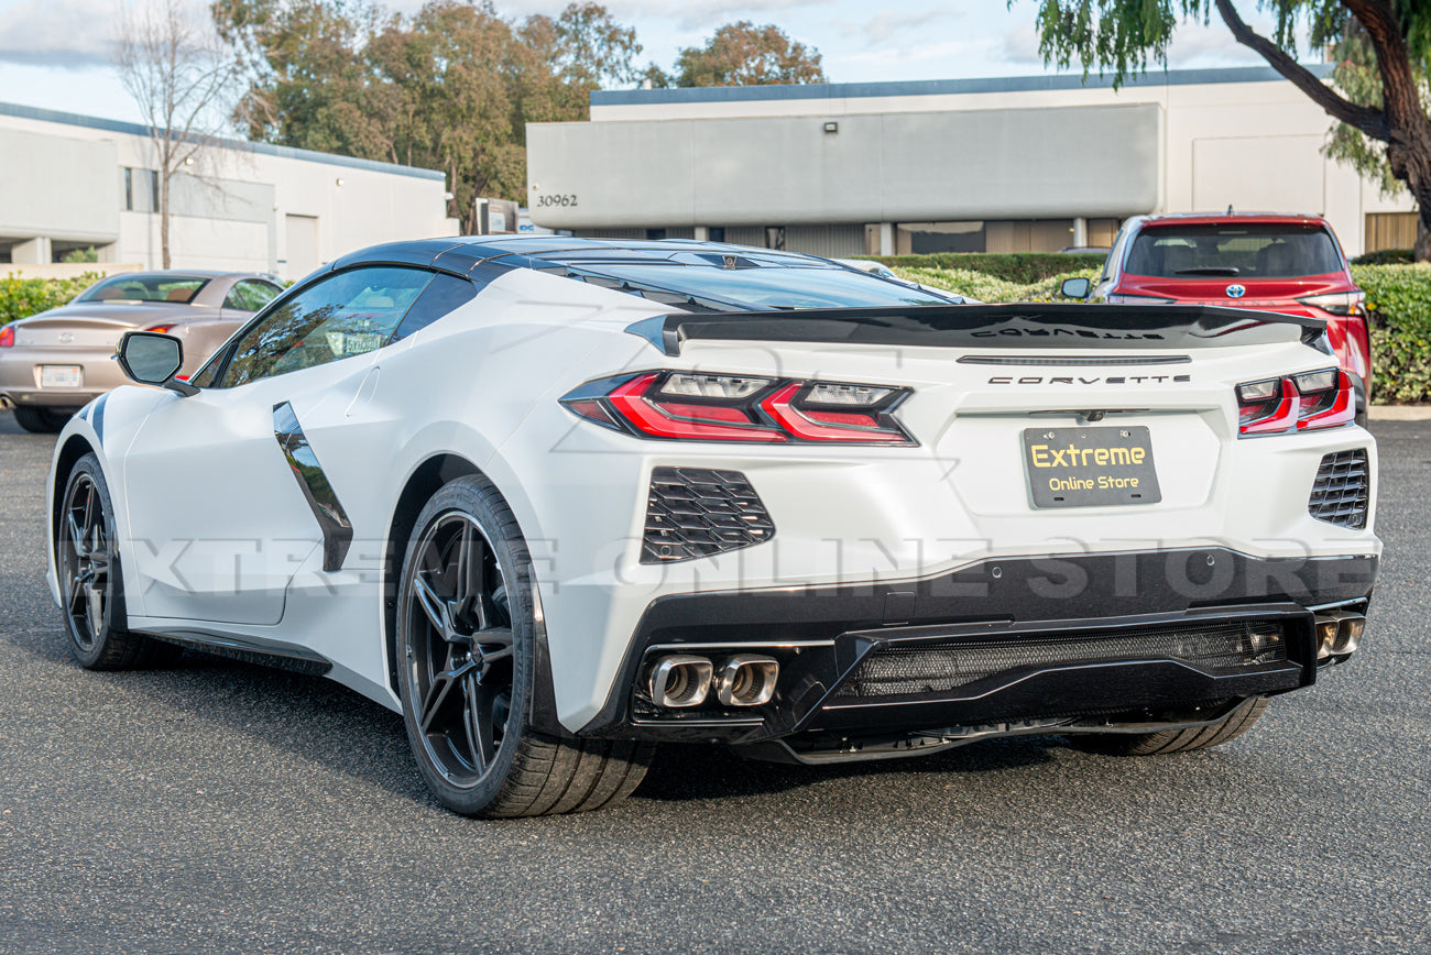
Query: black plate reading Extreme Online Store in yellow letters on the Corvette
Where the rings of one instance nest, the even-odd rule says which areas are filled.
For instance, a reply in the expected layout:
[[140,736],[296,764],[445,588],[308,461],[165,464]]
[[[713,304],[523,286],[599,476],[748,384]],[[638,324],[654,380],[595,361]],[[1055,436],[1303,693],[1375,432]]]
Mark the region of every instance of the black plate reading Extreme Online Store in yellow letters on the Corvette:
[[1146,427],[1025,429],[1023,470],[1035,508],[1162,500]]

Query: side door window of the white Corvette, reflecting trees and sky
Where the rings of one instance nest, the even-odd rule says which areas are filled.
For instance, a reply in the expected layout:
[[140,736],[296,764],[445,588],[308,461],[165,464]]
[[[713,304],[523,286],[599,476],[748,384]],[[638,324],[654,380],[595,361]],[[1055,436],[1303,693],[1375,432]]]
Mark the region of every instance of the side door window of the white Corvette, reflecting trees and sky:
[[222,387],[316,367],[386,345],[432,279],[421,269],[351,269],[289,297],[233,349]]

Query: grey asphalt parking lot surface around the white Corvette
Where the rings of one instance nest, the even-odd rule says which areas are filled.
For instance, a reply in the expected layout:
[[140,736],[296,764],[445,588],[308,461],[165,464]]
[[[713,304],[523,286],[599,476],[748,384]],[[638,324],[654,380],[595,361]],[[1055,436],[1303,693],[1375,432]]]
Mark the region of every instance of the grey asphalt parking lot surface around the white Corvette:
[[1226,748],[670,748],[614,809],[479,822],[335,683],[76,666],[43,579],[53,439],[0,413],[0,951],[1431,951],[1431,422],[1374,430],[1365,646]]

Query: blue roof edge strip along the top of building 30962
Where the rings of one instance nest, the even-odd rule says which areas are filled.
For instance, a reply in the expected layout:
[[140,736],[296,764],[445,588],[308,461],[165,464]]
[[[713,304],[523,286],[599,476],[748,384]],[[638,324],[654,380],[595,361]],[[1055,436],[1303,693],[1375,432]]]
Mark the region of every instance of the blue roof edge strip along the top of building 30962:
[[[1332,63],[1307,64],[1325,77]],[[1123,86],[1192,86],[1199,83],[1272,83],[1285,77],[1269,66],[1236,66],[1203,70],[1161,70],[1123,81]],[[655,106],[664,103],[738,103],[758,100],[834,100],[876,96],[950,96],[970,93],[1026,93],[1036,90],[1110,89],[1110,76],[1053,73],[996,76],[966,80],[892,80],[873,83],[806,83],[784,86],[701,86],[660,90],[592,90],[591,106]]]

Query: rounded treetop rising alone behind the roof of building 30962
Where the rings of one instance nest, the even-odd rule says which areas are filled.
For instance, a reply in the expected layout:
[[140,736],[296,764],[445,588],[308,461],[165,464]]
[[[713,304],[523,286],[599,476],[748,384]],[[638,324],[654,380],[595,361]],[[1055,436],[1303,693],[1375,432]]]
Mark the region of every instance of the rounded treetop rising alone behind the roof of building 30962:
[[671,73],[651,66],[653,86],[763,86],[824,83],[820,51],[791,40],[777,26],[727,23],[703,47],[685,47]]

